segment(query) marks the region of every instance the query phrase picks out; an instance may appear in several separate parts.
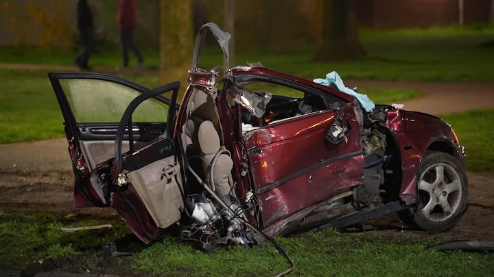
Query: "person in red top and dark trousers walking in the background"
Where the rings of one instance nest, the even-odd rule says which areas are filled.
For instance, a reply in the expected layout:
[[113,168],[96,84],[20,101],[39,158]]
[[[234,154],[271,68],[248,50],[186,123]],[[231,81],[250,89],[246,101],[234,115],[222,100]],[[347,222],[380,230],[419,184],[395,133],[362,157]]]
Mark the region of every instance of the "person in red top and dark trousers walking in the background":
[[128,67],[128,51],[132,51],[137,57],[139,66],[143,65],[141,51],[134,42],[134,30],[137,26],[137,5],[134,0],[120,0],[117,12],[117,23],[120,29],[120,42],[122,48],[123,66]]

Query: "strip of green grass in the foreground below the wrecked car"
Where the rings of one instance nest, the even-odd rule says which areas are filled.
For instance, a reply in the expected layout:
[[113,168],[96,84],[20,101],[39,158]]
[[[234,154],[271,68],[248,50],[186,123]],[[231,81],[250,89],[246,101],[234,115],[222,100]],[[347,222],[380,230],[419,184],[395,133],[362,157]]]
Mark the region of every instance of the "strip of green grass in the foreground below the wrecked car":
[[[46,213],[14,215],[0,211],[0,222],[0,243],[9,246],[0,250],[1,269],[19,270],[33,261],[49,260],[63,265],[62,271],[98,272],[101,246],[128,232],[121,220]],[[112,224],[114,228],[73,233],[60,230],[97,224]],[[295,263],[288,276],[491,276],[493,269],[493,253],[427,250],[427,246],[440,242],[429,239],[339,233],[329,228],[277,240]],[[271,245],[238,246],[206,254],[173,237],[114,260],[104,263],[119,264],[125,276],[133,276],[132,271],[139,276],[275,276],[290,267]]]

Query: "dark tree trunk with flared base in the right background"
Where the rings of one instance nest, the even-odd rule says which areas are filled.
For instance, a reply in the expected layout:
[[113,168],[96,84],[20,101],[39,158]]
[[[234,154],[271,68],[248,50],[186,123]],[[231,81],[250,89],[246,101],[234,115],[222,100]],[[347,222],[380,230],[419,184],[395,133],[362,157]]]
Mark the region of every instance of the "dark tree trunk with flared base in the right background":
[[322,38],[316,60],[340,62],[364,55],[355,17],[356,0],[322,1]]

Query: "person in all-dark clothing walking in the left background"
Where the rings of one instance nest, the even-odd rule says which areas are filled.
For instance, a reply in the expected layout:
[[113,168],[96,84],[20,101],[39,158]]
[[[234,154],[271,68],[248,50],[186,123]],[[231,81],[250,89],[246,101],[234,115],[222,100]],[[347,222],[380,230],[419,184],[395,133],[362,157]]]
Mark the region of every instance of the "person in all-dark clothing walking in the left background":
[[91,70],[89,57],[93,52],[93,13],[86,0],[77,3],[77,27],[82,42],[82,51],[75,59],[75,64],[82,70]]

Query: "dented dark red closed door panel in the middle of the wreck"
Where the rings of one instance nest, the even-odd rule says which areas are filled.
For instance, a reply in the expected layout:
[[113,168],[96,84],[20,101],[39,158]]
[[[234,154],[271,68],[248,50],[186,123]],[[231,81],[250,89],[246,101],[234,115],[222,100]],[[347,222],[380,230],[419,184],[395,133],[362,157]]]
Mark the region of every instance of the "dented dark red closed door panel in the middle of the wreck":
[[[351,120],[353,109],[344,110]],[[254,193],[263,225],[362,183],[364,161],[358,122],[339,144],[326,140],[334,111],[302,116],[244,134]]]

